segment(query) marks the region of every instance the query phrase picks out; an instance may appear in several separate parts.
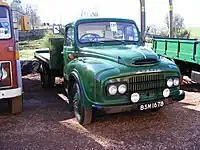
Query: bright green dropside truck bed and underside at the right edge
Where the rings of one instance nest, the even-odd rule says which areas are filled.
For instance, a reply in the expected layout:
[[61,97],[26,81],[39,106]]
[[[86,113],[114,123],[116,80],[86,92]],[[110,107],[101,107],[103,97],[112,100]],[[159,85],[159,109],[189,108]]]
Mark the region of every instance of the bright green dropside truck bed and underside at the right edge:
[[152,49],[173,60],[182,75],[200,83],[200,41],[197,39],[153,38]]

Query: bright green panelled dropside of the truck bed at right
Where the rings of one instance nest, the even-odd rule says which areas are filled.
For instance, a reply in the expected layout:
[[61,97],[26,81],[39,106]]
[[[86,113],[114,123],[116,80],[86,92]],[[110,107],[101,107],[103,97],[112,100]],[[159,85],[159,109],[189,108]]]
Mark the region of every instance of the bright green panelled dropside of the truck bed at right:
[[200,64],[200,45],[196,39],[153,39],[153,50],[162,56]]

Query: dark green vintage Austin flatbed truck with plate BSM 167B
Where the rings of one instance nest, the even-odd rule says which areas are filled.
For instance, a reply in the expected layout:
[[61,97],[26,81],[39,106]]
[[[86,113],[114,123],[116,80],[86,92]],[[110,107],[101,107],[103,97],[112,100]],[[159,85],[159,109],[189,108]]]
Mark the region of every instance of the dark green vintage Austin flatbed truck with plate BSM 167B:
[[41,83],[64,77],[69,104],[80,124],[95,112],[157,111],[185,97],[176,64],[141,46],[136,23],[120,18],[79,19],[65,26],[64,38],[38,50]]

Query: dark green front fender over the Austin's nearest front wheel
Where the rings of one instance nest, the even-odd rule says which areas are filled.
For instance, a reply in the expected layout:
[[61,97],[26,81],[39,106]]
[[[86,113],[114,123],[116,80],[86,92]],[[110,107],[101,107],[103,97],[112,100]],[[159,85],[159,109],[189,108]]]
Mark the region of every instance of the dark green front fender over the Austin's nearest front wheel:
[[98,80],[98,75],[113,68],[113,65],[98,60],[74,60],[65,66],[64,76],[66,79],[69,79],[69,76],[73,76],[80,83],[84,95],[84,103],[88,106],[88,102],[92,103],[96,100],[96,93],[101,92],[96,91],[101,89],[101,81]]

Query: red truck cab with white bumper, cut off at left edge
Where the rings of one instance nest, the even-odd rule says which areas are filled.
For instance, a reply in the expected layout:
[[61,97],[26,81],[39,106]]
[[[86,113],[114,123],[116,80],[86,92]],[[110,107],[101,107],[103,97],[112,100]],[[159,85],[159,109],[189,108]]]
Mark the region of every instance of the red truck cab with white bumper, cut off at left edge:
[[0,100],[7,99],[12,113],[22,111],[22,77],[17,28],[9,5],[0,0]]

